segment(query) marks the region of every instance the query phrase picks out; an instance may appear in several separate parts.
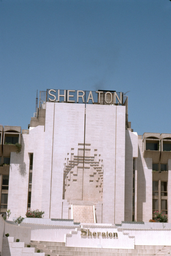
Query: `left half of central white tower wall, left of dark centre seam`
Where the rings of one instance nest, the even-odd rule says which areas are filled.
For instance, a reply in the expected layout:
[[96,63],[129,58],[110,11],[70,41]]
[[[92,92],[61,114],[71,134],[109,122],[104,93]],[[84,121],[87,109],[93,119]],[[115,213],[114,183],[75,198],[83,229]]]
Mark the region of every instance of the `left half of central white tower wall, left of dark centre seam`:
[[79,108],[67,103],[46,106],[42,205],[51,218],[62,218],[64,163],[68,152],[84,142],[84,113],[83,104]]

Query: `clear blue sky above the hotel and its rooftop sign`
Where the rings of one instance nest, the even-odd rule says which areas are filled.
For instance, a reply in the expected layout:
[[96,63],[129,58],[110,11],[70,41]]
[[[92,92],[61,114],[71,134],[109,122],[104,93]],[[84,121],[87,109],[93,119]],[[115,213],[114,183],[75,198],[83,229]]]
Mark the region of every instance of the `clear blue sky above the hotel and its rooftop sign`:
[[171,133],[171,1],[0,0],[0,124],[27,129],[36,92],[130,91],[132,128]]

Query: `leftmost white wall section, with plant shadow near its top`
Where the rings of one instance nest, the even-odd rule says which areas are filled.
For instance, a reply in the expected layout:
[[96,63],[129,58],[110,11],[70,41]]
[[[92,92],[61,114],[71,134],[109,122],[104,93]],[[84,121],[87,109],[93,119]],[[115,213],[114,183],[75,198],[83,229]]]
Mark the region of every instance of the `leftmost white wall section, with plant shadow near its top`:
[[[8,209],[13,217],[25,217],[28,198],[28,176],[29,176],[29,135],[22,135],[22,151],[19,154],[11,152],[10,176],[8,191]],[[22,203],[21,203],[22,202]]]

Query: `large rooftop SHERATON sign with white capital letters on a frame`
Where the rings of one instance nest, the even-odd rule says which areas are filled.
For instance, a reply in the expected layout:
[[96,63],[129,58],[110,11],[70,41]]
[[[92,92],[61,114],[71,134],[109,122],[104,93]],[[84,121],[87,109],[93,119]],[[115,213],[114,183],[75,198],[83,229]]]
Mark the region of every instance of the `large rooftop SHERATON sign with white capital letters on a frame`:
[[123,104],[123,93],[116,91],[47,90],[47,101],[84,104]]

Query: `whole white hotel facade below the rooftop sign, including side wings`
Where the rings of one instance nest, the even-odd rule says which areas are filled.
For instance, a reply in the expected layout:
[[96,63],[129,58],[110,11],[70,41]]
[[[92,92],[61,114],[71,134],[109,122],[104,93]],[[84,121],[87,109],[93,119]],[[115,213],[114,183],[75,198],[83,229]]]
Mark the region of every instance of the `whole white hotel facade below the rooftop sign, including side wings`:
[[[0,127],[1,143],[11,132],[22,144],[20,153],[15,145],[11,152],[10,145],[1,145],[6,152],[3,155],[2,147],[1,164],[10,154],[10,166],[0,167],[1,214],[10,209],[9,220],[13,220],[25,217],[27,210],[39,209],[45,212],[44,218],[75,216],[86,222],[88,209],[94,209],[89,222],[119,224],[148,222],[155,217],[153,210],[164,210],[171,221],[170,134],[138,136],[128,124],[124,104],[46,102],[39,116],[41,122],[34,119],[37,124],[22,135],[18,127],[5,126],[4,134]],[[157,148],[148,149],[149,144]],[[163,166],[166,170],[161,171]],[[5,175],[9,175],[6,205]],[[153,182],[158,184],[157,192]]]

